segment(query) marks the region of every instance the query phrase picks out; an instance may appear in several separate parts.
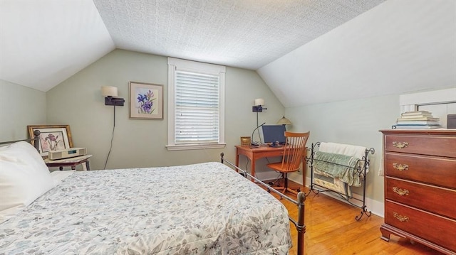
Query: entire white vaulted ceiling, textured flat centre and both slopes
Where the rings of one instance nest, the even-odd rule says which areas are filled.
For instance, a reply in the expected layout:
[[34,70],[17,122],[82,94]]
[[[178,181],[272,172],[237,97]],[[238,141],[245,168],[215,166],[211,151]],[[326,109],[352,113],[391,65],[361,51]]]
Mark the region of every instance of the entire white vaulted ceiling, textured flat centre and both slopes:
[[[286,107],[303,97],[369,97],[372,84],[385,88],[377,94],[448,86],[456,82],[455,3],[1,0],[0,79],[46,92],[120,48],[257,70]],[[388,87],[427,66],[432,72],[408,86]],[[296,93],[310,87],[311,95]]]

